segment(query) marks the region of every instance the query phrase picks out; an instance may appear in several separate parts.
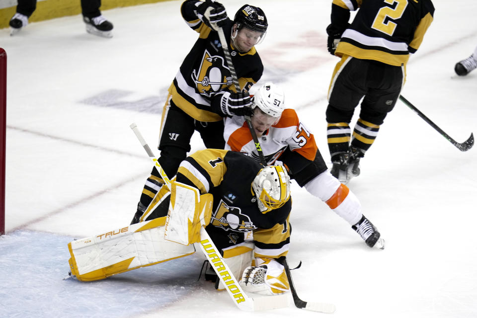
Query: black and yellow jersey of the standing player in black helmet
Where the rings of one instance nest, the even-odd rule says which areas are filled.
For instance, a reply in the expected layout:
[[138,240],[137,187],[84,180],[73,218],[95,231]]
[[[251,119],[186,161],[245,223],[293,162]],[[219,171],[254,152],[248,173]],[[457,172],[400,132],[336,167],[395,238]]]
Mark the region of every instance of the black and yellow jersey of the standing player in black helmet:
[[[219,34],[197,17],[196,2],[197,0],[187,0],[181,6],[182,17],[190,28],[199,33],[199,38],[182,62],[169,87],[169,93],[172,102],[194,119],[206,122],[219,121],[222,117],[211,109],[211,99],[219,90],[235,91],[235,87]],[[232,20],[227,19],[223,26],[229,42],[233,24]],[[260,56],[255,47],[246,53],[240,53],[232,43],[229,43],[229,51],[240,88],[248,91],[262,76],[263,65]]]

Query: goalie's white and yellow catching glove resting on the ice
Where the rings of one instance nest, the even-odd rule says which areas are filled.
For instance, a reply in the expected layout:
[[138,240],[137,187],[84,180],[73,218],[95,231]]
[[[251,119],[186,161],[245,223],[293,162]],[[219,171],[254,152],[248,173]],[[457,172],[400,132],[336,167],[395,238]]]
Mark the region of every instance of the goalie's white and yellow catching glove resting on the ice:
[[285,267],[272,258],[255,258],[257,266],[248,266],[242,274],[240,285],[245,292],[261,295],[278,295],[290,290]]

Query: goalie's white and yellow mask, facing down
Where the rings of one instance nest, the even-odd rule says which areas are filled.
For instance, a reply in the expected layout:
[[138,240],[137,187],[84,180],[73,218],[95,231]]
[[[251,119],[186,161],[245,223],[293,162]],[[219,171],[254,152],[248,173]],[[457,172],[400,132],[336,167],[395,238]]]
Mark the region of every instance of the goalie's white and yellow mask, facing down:
[[252,190],[262,213],[278,209],[290,199],[290,176],[282,165],[270,165],[258,171]]

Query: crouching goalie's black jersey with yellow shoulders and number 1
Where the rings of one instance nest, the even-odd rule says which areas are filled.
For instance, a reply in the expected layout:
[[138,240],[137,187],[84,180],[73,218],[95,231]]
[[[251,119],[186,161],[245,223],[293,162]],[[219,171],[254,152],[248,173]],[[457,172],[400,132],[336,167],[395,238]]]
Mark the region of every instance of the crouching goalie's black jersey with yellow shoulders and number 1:
[[226,236],[253,231],[256,255],[277,258],[288,251],[291,199],[278,209],[260,212],[251,184],[261,168],[239,152],[206,149],[182,161],[176,181],[214,196],[207,231],[220,231]]

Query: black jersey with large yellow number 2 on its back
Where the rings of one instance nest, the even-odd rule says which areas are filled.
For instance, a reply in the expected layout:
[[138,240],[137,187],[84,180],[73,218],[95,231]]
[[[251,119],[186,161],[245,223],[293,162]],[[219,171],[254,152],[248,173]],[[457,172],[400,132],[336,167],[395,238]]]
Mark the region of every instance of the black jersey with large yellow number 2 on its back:
[[335,54],[395,66],[405,65],[409,53],[416,52],[434,15],[431,0],[333,0],[332,24],[348,22],[340,21],[346,16],[343,8],[359,10]]

